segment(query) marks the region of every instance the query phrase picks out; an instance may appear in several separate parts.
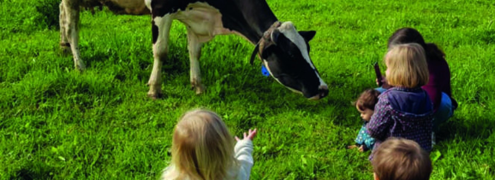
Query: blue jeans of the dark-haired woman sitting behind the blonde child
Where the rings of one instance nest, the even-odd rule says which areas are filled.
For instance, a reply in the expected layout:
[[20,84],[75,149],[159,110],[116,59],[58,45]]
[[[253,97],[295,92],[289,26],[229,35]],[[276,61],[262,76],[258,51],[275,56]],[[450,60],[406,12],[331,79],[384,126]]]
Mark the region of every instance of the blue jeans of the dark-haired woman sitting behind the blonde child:
[[[385,92],[382,87],[375,88],[375,90],[380,93]],[[442,92],[442,101],[440,101],[440,106],[437,109],[437,112],[433,114],[433,131],[437,131],[440,124],[445,123],[448,118],[452,117],[454,114],[454,110],[452,107],[452,100],[445,92]]]

